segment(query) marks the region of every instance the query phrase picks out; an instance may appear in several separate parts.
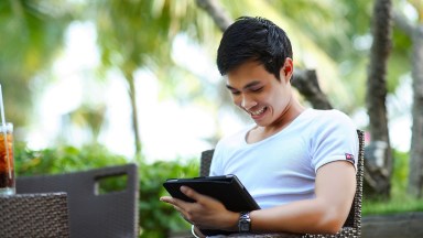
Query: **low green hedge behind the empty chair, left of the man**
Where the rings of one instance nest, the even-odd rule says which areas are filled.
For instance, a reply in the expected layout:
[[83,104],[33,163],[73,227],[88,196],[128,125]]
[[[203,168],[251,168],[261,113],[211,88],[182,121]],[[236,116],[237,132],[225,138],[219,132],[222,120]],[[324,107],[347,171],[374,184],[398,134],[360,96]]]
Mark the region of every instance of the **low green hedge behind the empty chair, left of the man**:
[[[82,149],[62,145],[40,151],[30,150],[24,143],[14,147],[17,176],[56,174],[128,163],[123,156],[111,154],[106,148],[95,144]],[[187,230],[188,224],[170,205],[160,202],[167,195],[162,186],[166,178],[198,175],[198,163],[158,161],[151,164],[139,162],[140,183],[140,237],[161,238],[178,230]],[[102,181],[100,193],[121,190],[126,177]]]

